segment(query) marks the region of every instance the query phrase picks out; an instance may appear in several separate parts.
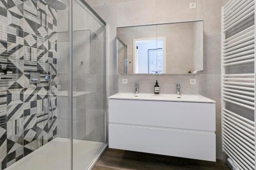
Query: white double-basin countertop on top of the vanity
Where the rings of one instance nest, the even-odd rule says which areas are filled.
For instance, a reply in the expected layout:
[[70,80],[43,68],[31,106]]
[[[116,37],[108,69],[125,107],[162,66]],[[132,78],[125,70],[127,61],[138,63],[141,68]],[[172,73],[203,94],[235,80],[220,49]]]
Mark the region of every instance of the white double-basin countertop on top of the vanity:
[[109,99],[124,100],[147,100],[147,101],[172,101],[172,102],[196,102],[196,103],[216,103],[215,101],[198,94],[154,94],[154,93],[116,93]]

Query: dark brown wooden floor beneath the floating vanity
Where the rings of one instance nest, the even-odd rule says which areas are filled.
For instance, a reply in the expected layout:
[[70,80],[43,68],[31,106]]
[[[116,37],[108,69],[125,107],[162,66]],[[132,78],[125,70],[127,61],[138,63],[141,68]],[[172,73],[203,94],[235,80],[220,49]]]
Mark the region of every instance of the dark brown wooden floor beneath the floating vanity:
[[93,170],[229,170],[224,162],[199,161],[156,154],[106,149]]

